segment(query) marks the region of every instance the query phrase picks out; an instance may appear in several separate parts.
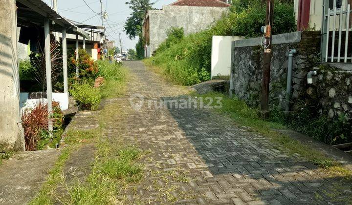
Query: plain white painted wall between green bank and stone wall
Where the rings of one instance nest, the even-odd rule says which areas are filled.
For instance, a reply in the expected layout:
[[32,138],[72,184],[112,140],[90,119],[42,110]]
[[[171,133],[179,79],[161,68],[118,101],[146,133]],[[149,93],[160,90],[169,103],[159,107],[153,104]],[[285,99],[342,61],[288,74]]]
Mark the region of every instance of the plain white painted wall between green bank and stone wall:
[[239,36],[213,36],[211,79],[214,76],[230,76],[231,42],[243,39]]

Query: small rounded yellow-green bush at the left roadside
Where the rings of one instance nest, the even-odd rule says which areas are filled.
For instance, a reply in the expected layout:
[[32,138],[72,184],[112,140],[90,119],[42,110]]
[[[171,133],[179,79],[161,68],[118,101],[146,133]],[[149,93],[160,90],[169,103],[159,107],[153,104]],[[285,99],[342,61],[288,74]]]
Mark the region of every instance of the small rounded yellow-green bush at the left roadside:
[[93,88],[90,84],[73,84],[70,94],[83,108],[90,110],[99,108],[101,94],[99,89]]

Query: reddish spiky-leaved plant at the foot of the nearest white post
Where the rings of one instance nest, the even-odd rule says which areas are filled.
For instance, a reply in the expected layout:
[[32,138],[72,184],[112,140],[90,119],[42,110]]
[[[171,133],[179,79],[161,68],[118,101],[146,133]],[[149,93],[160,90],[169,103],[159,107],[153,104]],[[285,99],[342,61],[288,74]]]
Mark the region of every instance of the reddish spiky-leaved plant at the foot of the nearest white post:
[[[53,102],[54,127],[63,122],[62,111],[59,102]],[[24,141],[26,151],[37,150],[38,141],[41,140],[42,131],[48,131],[47,104],[38,102],[33,109],[25,110],[22,114],[22,126],[24,129]]]

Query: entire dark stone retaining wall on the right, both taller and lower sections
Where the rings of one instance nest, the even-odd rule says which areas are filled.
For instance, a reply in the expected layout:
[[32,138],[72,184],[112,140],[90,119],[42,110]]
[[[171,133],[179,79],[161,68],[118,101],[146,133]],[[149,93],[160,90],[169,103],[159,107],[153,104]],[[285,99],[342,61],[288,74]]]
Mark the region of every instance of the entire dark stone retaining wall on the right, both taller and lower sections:
[[[246,39],[232,43],[230,93],[251,106],[259,106],[261,99],[263,48],[260,39]],[[352,72],[320,65],[320,32],[294,32],[273,37],[270,73],[270,105],[285,106],[288,50],[296,49],[292,72],[290,108],[302,109],[329,118],[352,123]],[[313,84],[307,74],[315,66],[318,75]],[[352,66],[351,66],[352,67]]]

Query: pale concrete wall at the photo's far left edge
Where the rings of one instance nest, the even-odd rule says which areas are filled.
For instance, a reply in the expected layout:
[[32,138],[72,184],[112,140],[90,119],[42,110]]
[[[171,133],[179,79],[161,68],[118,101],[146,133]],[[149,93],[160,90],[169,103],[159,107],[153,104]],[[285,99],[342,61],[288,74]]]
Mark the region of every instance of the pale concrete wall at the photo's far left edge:
[[0,148],[24,150],[15,0],[1,0],[0,13]]

